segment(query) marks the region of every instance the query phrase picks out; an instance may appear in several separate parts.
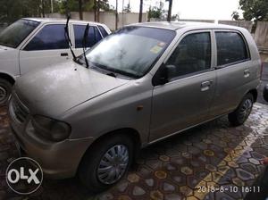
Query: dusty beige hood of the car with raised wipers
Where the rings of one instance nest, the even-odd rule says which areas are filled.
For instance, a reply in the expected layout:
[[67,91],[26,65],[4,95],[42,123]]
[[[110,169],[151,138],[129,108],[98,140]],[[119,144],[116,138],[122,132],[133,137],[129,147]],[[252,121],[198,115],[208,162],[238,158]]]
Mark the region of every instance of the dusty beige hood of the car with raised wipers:
[[56,117],[128,81],[68,62],[26,73],[17,79],[15,93],[31,114]]

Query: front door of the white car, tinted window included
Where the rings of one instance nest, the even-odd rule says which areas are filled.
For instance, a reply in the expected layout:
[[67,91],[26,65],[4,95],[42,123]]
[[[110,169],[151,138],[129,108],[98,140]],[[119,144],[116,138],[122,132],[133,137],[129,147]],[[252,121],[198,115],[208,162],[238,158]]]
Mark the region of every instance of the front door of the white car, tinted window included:
[[69,59],[71,52],[64,37],[65,24],[46,24],[20,51],[21,74]]

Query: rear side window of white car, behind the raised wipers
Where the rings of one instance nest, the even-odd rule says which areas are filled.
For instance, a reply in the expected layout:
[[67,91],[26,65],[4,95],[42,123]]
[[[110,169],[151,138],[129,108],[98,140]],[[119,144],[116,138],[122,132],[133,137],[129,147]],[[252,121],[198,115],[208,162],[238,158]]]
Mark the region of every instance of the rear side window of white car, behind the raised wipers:
[[[83,39],[84,39],[84,32],[86,29],[85,25],[74,25],[74,37],[75,37],[75,47],[76,48],[82,48],[83,47]],[[92,47],[94,46],[99,40],[101,40],[102,37],[96,29],[96,27],[89,27],[88,29],[88,40],[87,40],[87,46],[86,47]]]

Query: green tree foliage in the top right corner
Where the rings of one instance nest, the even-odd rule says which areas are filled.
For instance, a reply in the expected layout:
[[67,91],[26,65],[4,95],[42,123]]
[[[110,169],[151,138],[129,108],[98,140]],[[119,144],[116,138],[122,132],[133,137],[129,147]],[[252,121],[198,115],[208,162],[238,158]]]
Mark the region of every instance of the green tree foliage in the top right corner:
[[246,21],[268,21],[267,0],[239,0],[239,5]]

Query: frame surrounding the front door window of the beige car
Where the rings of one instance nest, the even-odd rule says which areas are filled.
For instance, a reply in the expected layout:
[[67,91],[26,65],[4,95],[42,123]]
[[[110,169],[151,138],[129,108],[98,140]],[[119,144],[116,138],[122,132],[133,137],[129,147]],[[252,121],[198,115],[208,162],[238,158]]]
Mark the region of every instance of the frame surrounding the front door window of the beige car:
[[[170,59],[171,55],[173,54],[173,52],[175,51],[175,49],[177,48],[177,46],[180,45],[180,42],[181,40],[184,38],[184,37],[187,37],[188,35],[192,35],[192,34],[196,34],[196,33],[209,33],[210,34],[210,41],[211,41],[211,62],[210,62],[210,68],[209,69],[206,69],[204,71],[196,71],[196,72],[192,72],[192,73],[188,73],[188,74],[185,74],[185,75],[181,75],[181,76],[178,76],[178,77],[175,77],[175,78],[172,78],[170,79],[166,84],[169,84],[169,83],[172,83],[176,80],[179,80],[179,79],[188,79],[188,78],[191,78],[191,77],[196,77],[200,74],[203,74],[203,73],[206,73],[206,72],[209,72],[209,71],[214,71],[214,35],[213,35],[213,30],[212,29],[197,29],[197,30],[190,30],[188,32],[185,32],[184,34],[182,34],[178,41],[176,42],[176,44],[172,47],[172,50],[170,51],[170,53],[166,56],[166,58],[163,60],[163,63],[164,65],[166,65],[167,61]],[[162,71],[163,68],[160,67],[156,72],[155,72],[155,75],[158,74],[158,71]],[[153,79],[155,79],[156,77],[153,77]],[[152,80],[153,80],[152,79]],[[153,81],[154,82],[154,81]],[[165,84],[165,85],[166,85]],[[154,84],[153,84],[154,85]]]

